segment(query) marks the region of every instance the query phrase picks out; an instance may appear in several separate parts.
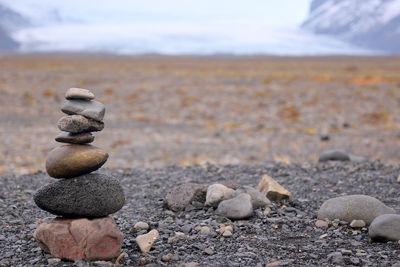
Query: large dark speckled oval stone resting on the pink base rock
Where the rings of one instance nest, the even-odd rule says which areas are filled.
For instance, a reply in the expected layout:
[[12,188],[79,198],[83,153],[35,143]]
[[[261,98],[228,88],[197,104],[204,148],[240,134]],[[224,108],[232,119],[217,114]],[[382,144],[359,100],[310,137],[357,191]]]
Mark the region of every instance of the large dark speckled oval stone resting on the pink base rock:
[[57,180],[40,188],[33,199],[51,214],[83,218],[107,216],[125,203],[119,181],[99,173]]

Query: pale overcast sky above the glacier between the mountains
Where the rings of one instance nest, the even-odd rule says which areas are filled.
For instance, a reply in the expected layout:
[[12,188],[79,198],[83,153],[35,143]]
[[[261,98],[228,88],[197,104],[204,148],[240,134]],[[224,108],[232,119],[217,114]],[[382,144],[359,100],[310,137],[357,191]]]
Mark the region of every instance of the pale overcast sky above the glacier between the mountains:
[[260,22],[294,27],[306,17],[311,0],[1,0],[17,11],[45,22],[57,10],[62,19],[86,23]]

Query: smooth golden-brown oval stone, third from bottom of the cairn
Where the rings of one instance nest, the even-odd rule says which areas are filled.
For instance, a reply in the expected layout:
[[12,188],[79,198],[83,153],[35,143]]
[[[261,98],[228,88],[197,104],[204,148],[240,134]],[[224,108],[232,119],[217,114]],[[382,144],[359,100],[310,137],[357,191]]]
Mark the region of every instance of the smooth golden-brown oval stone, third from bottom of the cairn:
[[62,145],[50,151],[46,171],[54,178],[72,178],[99,169],[107,159],[106,151],[92,145]]

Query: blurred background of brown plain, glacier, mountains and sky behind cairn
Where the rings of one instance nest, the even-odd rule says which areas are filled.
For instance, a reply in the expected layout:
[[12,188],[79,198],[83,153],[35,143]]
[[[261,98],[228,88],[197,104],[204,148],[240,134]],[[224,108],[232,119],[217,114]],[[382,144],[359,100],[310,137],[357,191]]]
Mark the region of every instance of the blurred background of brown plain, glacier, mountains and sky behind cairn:
[[400,162],[400,0],[0,0],[0,50],[0,174],[44,169],[70,87],[106,167]]

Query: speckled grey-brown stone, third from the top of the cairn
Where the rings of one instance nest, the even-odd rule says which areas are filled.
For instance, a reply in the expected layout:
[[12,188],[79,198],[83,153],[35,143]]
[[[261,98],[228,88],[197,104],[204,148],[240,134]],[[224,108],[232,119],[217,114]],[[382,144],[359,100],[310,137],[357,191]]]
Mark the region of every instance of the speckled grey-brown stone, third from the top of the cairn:
[[104,129],[104,123],[88,119],[82,115],[64,116],[57,122],[58,129],[73,134],[98,132]]

